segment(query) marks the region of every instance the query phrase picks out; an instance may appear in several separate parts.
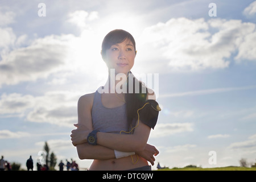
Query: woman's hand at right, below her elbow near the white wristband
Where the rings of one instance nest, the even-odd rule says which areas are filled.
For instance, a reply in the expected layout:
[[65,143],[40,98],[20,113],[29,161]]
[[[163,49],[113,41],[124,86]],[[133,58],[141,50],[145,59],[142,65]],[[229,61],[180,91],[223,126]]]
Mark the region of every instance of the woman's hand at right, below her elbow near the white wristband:
[[154,156],[159,154],[159,151],[155,148],[155,146],[151,146],[150,144],[146,144],[146,147],[141,152],[136,152],[139,156],[146,159],[148,162],[154,166],[155,158]]

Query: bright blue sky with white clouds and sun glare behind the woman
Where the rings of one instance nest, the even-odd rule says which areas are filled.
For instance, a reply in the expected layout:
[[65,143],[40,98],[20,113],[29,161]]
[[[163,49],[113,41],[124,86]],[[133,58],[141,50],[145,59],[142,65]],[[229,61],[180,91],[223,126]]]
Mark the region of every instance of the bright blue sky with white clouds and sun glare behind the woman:
[[156,163],[256,162],[256,1],[249,0],[1,1],[5,160],[26,168],[31,155],[36,164],[47,141],[57,163],[72,158],[90,166],[69,135],[79,97],[106,81],[101,43],[117,28],[134,36],[131,71],[148,76],[145,84],[162,107],[148,139],[160,151]]

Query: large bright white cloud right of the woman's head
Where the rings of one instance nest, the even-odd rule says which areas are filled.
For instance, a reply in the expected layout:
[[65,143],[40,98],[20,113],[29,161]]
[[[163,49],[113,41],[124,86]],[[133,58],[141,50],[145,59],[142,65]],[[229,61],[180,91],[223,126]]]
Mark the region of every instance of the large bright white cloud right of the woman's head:
[[236,51],[237,61],[255,60],[255,34],[241,20],[172,18],[144,29],[137,59],[151,72],[227,68]]

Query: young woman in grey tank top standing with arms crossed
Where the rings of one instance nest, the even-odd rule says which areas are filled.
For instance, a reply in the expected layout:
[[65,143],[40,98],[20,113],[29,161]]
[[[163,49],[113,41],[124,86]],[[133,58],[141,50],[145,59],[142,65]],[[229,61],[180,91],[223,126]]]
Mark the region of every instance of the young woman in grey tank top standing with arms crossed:
[[[160,108],[153,90],[130,71],[136,53],[129,32],[109,32],[101,51],[108,81],[95,93],[79,98],[77,129],[72,130],[71,140],[80,159],[94,159],[89,170],[151,170],[148,162],[154,165],[154,156],[159,154],[147,140]],[[113,71],[122,79],[111,76]]]

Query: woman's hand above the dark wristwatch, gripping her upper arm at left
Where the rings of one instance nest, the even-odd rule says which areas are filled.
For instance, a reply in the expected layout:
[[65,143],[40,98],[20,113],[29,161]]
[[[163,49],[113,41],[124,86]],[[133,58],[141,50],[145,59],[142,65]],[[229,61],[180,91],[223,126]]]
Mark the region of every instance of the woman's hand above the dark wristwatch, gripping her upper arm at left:
[[72,134],[70,135],[73,146],[87,142],[87,137],[92,130],[89,130],[86,126],[81,124],[74,124],[74,126],[76,126],[77,129],[72,130]]

